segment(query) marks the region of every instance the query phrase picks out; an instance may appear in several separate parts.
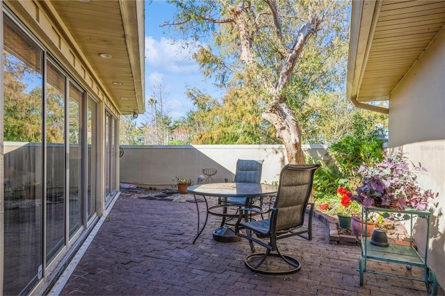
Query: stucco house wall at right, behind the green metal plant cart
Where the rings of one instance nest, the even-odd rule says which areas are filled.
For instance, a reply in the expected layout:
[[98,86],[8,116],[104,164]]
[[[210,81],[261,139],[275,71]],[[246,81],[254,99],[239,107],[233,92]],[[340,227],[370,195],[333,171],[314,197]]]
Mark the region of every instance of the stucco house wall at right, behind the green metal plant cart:
[[[389,142],[414,163],[428,169],[424,188],[439,192],[430,202],[432,213],[428,265],[445,286],[445,31],[426,49],[390,96]],[[426,226],[418,222],[414,238],[425,245]]]

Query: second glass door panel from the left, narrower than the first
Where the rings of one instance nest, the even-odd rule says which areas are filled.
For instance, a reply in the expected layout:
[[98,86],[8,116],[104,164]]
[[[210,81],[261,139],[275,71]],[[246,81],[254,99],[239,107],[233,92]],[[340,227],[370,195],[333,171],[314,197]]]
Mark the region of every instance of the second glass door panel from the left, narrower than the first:
[[65,75],[47,63],[47,263],[65,246],[65,91]]

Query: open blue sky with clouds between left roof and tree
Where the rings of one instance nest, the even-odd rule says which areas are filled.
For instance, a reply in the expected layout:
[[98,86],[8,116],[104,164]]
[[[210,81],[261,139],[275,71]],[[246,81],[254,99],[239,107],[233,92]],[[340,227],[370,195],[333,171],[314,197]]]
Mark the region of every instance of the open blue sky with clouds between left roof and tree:
[[[178,40],[180,36],[163,33],[165,28],[159,25],[172,19],[174,13],[175,6],[165,1],[145,2],[145,99],[152,97],[152,83],[161,81],[166,91],[168,115],[177,120],[193,108],[185,94],[187,85],[207,91],[213,97],[221,97],[221,92],[213,88],[213,81],[204,81],[188,51],[170,42],[170,38]],[[149,106],[146,110],[149,112]]]

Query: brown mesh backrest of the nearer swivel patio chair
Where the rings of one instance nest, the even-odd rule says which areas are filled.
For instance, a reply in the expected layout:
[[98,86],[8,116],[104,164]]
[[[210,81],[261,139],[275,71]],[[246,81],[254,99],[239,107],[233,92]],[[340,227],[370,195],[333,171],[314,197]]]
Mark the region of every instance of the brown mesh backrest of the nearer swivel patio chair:
[[275,231],[301,227],[305,222],[305,211],[312,192],[316,165],[286,165],[280,173],[277,197],[270,217],[270,226]]

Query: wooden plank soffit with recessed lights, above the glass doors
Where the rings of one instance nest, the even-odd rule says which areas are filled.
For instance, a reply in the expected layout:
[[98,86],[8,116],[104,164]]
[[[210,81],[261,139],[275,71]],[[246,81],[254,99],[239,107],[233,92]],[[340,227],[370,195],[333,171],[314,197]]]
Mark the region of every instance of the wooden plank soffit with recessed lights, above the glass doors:
[[120,112],[144,113],[144,1],[51,0],[51,4]]

